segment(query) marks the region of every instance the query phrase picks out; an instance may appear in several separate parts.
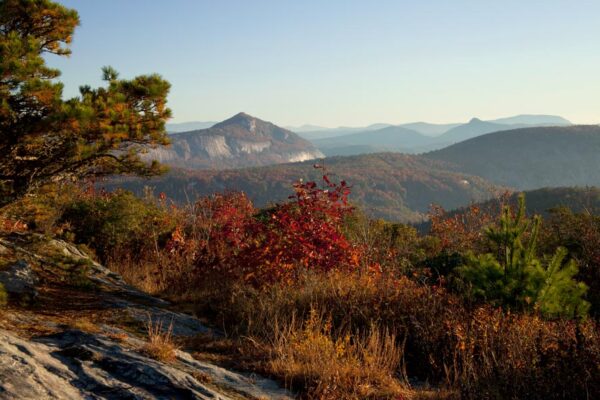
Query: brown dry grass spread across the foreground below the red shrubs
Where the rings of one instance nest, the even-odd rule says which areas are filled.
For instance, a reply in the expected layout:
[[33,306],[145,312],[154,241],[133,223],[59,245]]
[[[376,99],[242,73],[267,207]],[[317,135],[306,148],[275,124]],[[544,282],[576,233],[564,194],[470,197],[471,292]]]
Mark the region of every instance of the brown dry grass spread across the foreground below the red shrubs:
[[[280,378],[305,398],[450,398],[460,393],[465,399],[546,399],[600,393],[600,335],[593,320],[545,321],[485,306],[473,309],[444,289],[406,277],[307,274],[291,285],[257,290],[227,279],[190,285],[177,263],[155,271],[159,279],[150,283],[144,276],[152,276],[158,264],[140,265],[123,264],[128,271],[120,272],[138,287],[193,304],[197,315],[230,338],[258,343],[263,352],[247,362],[249,369]],[[331,321],[329,333],[322,324],[306,333],[311,307],[327,310],[328,318],[319,324]],[[390,369],[386,357],[377,356],[382,354],[377,349],[389,343],[386,329],[406,337],[398,365],[406,366],[411,379],[446,391],[405,394],[399,379],[403,369]],[[350,333],[349,342],[341,331]],[[370,342],[378,344],[369,347]],[[333,351],[336,346],[345,346],[344,356]],[[239,366],[244,354],[230,348]],[[225,352],[216,353],[214,361],[227,362]]]

